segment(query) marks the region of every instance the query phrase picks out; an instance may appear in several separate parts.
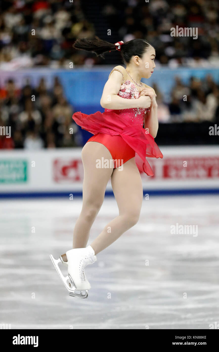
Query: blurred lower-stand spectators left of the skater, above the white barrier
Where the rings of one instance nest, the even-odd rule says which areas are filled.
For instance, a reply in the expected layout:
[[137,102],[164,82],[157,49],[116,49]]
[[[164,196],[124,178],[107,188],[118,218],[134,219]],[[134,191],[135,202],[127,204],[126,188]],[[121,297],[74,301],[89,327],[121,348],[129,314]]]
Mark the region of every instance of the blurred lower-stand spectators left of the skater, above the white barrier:
[[50,90],[44,78],[35,89],[27,81],[21,90],[9,79],[0,89],[0,126],[11,127],[11,138],[0,134],[0,149],[77,146],[78,126],[72,114],[57,77]]

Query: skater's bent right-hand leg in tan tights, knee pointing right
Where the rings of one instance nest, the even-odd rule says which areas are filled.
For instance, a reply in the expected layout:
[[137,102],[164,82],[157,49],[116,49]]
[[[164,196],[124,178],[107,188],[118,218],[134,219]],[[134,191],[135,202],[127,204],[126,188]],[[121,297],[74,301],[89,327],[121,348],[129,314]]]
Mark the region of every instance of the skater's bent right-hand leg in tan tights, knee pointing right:
[[119,215],[107,224],[91,243],[95,254],[112,244],[139,220],[143,190],[140,172],[135,158],[123,164],[123,170],[114,169],[111,176],[112,189],[119,209]]

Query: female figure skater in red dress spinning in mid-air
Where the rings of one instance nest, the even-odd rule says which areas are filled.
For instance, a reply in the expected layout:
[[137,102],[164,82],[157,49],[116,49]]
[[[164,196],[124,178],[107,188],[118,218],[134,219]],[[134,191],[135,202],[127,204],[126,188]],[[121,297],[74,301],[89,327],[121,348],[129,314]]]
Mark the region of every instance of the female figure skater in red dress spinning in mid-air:
[[[93,264],[99,252],[137,223],[143,198],[139,171],[153,176],[146,157],[163,155],[154,142],[158,130],[156,94],[141,82],[142,77],[150,78],[156,67],[153,46],[144,39],[111,44],[96,36],[93,40],[77,39],[73,47],[101,57],[104,52],[118,50],[126,65],[114,67],[109,74],[100,101],[105,108],[103,113],[76,112],[72,116],[79,126],[93,134],[82,149],[83,205],[73,232],[73,249],[59,259],[50,258],[69,294],[86,298],[91,285],[84,273],[85,266]],[[86,247],[110,177],[119,215]],[[67,266],[68,276],[63,276],[59,263]]]

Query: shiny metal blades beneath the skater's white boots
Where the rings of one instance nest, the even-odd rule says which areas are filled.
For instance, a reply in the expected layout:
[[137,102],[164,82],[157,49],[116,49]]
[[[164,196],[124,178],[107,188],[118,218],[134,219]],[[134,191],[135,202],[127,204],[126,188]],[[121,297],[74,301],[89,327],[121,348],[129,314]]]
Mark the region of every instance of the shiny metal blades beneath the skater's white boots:
[[[50,259],[52,260],[52,263],[54,265],[54,267],[56,268],[56,271],[58,272],[62,282],[64,283],[66,289],[69,292],[70,296],[73,297],[79,297],[79,298],[87,298],[88,297],[88,290],[78,290],[72,280],[72,278],[70,277],[70,275],[64,276],[62,274],[62,271],[60,270],[58,264],[62,263],[62,260],[60,258],[55,259],[52,254],[50,255]],[[78,291],[79,293],[76,293],[75,291]],[[83,294],[83,291],[85,292],[85,294]]]

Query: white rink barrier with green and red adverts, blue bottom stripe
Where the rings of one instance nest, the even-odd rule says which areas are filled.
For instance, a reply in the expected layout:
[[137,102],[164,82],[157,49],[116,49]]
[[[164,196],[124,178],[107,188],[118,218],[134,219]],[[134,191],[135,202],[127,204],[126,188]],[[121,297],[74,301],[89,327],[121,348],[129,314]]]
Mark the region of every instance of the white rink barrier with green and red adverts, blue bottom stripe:
[[[143,195],[219,193],[219,146],[160,147],[147,158],[154,176],[141,173]],[[82,197],[82,148],[0,152],[0,197]],[[122,171],[121,171],[122,172]],[[109,180],[106,196],[113,196]]]

